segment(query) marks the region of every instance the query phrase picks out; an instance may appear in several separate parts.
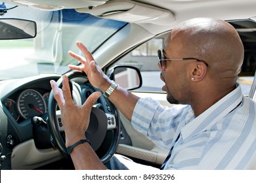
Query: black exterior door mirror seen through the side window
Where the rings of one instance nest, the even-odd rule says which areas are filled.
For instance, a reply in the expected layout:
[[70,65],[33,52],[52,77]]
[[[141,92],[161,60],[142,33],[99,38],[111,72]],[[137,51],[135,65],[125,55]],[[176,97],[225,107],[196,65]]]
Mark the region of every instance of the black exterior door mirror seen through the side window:
[[126,90],[135,90],[142,86],[142,77],[137,67],[118,65],[110,69],[108,75]]

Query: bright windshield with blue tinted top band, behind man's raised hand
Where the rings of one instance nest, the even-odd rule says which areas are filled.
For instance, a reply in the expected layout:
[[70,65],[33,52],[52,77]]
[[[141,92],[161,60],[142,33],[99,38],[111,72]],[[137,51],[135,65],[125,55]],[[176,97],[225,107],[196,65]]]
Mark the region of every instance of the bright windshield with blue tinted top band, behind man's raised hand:
[[126,24],[78,13],[73,9],[49,12],[16,7],[0,18],[22,18],[37,23],[34,39],[0,41],[0,80],[41,73],[62,75],[68,71],[68,64],[78,63],[68,56],[69,50],[79,53],[76,41],[84,42],[94,52]]

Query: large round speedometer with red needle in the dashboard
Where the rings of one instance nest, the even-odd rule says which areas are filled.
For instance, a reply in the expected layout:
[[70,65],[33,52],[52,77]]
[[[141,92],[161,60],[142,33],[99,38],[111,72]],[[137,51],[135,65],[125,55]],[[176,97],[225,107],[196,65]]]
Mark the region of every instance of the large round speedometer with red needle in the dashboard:
[[36,90],[28,89],[20,93],[17,102],[18,112],[25,119],[41,116],[46,112],[43,96]]

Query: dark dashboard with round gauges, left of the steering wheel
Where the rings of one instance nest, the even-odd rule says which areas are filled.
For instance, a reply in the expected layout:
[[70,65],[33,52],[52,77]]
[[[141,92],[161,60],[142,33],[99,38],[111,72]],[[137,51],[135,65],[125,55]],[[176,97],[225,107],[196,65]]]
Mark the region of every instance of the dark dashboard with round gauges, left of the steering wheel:
[[40,116],[46,120],[50,80],[58,78],[58,75],[41,75],[0,82],[1,169],[11,169],[15,146],[33,139],[33,117]]

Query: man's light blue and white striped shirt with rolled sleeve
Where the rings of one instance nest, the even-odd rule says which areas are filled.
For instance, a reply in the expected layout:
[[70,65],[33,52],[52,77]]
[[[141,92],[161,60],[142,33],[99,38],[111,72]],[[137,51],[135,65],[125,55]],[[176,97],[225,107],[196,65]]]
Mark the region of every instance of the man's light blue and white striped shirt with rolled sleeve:
[[190,105],[140,99],[132,125],[161,148],[174,146],[165,169],[246,169],[256,152],[255,113],[238,84],[196,118]]

